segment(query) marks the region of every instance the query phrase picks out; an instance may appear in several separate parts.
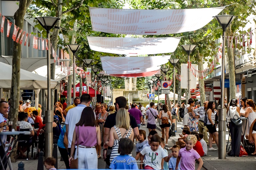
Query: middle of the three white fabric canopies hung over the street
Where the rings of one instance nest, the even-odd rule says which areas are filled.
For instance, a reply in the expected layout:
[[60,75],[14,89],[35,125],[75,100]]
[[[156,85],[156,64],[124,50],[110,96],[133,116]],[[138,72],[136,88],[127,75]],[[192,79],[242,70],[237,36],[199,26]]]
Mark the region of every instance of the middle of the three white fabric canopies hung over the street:
[[91,50],[113,54],[173,53],[181,38],[87,37]]

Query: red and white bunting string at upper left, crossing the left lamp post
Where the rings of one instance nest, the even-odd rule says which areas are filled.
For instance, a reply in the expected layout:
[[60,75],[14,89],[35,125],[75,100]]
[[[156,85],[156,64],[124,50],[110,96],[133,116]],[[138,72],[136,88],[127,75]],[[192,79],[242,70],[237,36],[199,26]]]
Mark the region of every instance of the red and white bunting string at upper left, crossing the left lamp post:
[[[5,20],[7,20],[7,31],[6,31],[6,36],[9,37],[10,36],[10,30],[11,30],[11,25],[13,24],[14,25],[14,29],[13,29],[13,32],[12,32],[12,39],[13,41],[17,42],[17,43],[20,43],[22,45],[23,43],[23,40],[24,40],[24,37],[25,37],[25,40],[24,40],[24,46],[27,45],[27,41],[28,41],[28,47],[30,46],[30,39],[31,39],[31,34],[25,32],[24,30],[20,29],[19,27],[17,27],[14,23],[12,23],[11,21],[9,21],[7,18],[5,18],[5,16],[3,16],[1,13],[0,13],[0,17],[2,16],[2,20],[1,21],[1,29],[0,29],[0,32],[3,33],[4,32],[4,24],[5,24]],[[26,34],[26,36],[25,36]],[[34,35],[33,36],[33,48],[35,49],[42,49],[42,50],[49,50],[48,49],[48,40],[46,40],[46,48],[45,48],[45,39],[42,39],[42,38],[38,38]],[[29,39],[28,39],[29,38]],[[40,43],[41,41],[41,43]],[[41,48],[42,47],[42,48]],[[51,48],[50,48],[51,49]],[[53,49],[53,48],[52,48]],[[53,57],[55,59],[55,61],[57,60],[57,54],[56,52],[54,51],[53,53]]]

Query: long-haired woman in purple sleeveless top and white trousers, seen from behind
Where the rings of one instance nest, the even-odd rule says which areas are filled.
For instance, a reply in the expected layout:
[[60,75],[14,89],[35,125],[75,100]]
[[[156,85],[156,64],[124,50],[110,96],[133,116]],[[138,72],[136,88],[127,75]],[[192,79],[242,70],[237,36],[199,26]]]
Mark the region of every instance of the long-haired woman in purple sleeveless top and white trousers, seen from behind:
[[[75,158],[78,159],[78,169],[98,169],[95,146],[100,144],[100,128],[96,123],[93,109],[91,107],[85,107],[74,129],[69,163],[73,161],[75,155]],[[75,145],[77,149],[74,154]],[[77,169],[71,165],[72,163],[70,164],[71,169]]]

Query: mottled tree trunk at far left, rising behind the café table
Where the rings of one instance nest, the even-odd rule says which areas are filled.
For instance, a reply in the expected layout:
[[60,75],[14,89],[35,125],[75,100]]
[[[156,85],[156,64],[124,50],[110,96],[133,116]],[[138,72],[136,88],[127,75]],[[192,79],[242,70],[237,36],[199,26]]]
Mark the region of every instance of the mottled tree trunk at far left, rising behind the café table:
[[[19,9],[14,14],[15,25],[23,29],[24,16],[32,0],[20,0]],[[11,87],[11,104],[9,112],[9,121],[13,122],[12,127],[16,130],[18,120],[18,107],[20,100],[20,62],[21,62],[21,45],[14,41],[13,59],[12,59],[12,87]],[[11,161],[16,162],[17,146],[11,154]]]

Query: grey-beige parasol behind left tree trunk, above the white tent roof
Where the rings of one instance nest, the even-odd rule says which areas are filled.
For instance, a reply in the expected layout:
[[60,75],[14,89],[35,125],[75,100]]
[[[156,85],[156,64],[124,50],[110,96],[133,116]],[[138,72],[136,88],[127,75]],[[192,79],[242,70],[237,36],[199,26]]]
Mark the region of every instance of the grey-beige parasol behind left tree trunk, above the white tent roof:
[[[69,59],[60,59],[60,62],[70,61]],[[12,57],[1,56],[0,62],[12,65]],[[58,62],[58,61],[56,61]],[[54,59],[51,59],[51,64],[54,63]],[[27,71],[34,71],[35,69],[47,65],[47,58],[21,58],[21,69]]]

